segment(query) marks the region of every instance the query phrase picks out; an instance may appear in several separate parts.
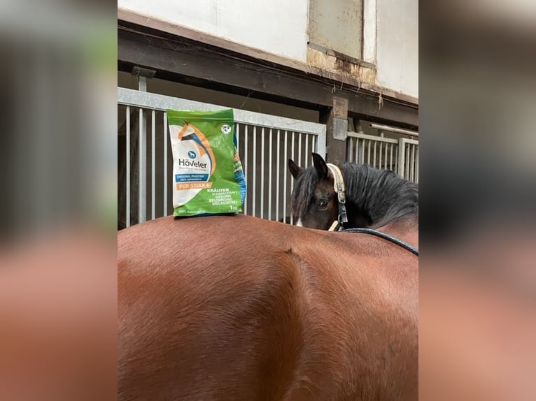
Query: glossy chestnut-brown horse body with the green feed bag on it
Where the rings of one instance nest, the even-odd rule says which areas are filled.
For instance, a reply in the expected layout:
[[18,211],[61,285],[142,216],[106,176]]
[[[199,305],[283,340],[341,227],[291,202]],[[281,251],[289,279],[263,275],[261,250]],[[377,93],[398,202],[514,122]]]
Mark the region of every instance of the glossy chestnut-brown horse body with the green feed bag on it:
[[416,400],[417,259],[243,215],[127,228],[118,399]]

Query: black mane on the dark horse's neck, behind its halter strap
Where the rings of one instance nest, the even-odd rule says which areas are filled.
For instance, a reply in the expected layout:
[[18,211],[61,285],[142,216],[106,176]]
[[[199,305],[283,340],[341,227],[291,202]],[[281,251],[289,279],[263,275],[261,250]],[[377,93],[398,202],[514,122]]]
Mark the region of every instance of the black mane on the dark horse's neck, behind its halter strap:
[[367,212],[377,228],[407,214],[418,214],[418,184],[391,170],[366,164],[342,163],[346,201]]

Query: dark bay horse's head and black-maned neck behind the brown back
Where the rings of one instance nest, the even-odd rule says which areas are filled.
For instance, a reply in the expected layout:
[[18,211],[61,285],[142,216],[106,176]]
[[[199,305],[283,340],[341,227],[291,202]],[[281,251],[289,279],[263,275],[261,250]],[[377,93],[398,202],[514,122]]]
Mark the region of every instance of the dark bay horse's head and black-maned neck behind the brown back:
[[[339,204],[330,169],[322,156],[312,155],[313,166],[306,169],[288,161],[296,180],[290,205],[299,226],[327,230],[337,220]],[[418,184],[364,164],[342,163],[339,168],[346,185],[344,228],[379,228],[404,217],[418,219]]]

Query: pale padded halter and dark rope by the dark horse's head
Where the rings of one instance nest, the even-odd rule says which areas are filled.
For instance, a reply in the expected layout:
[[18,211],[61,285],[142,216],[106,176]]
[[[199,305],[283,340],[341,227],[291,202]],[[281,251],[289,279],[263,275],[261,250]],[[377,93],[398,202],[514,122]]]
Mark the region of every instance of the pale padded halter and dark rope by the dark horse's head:
[[373,230],[372,228],[346,228],[343,229],[343,224],[348,222],[348,214],[346,214],[346,187],[344,187],[344,177],[341,169],[332,163],[327,163],[327,168],[330,169],[333,176],[333,189],[337,194],[337,202],[339,203],[339,215],[337,220],[333,221],[328,231],[341,231],[346,233],[365,233],[376,235],[377,237],[384,238],[390,242],[393,242],[400,247],[407,249],[411,253],[418,256],[418,249],[409,245],[407,242],[399,240],[391,235],[382,233],[381,231]]

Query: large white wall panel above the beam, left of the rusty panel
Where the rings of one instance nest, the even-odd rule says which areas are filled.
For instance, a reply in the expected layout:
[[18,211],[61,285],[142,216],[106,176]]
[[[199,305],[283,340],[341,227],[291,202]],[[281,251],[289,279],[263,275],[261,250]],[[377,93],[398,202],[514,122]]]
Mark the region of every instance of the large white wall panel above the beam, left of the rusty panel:
[[307,0],[118,0],[118,8],[306,61]]

